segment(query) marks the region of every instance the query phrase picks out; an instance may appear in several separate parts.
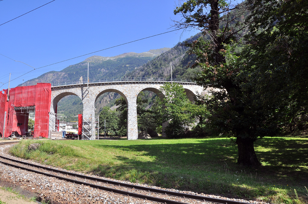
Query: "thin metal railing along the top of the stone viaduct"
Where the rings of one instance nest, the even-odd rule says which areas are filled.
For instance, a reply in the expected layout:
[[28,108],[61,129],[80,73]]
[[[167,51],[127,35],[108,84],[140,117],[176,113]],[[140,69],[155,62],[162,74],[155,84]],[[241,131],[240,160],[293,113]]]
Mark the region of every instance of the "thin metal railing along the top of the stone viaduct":
[[[171,82],[171,78],[153,78],[153,77],[135,77],[135,78],[110,78],[110,79],[99,79],[99,80],[89,80],[90,83],[103,83],[103,82],[119,82],[119,81],[163,81],[163,82]],[[172,79],[173,82],[195,82],[191,79]],[[87,84],[87,80],[83,81],[70,81],[70,82],[58,82],[51,83],[51,87],[55,86],[65,86],[65,85],[74,85],[74,84]]]

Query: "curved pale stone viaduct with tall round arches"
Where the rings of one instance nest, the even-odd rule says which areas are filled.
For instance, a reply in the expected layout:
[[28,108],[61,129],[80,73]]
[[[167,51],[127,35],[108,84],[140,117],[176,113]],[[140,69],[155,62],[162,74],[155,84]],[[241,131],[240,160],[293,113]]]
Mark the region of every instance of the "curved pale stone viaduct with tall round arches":
[[[95,139],[95,101],[106,92],[116,92],[124,97],[128,106],[127,115],[127,139],[138,139],[137,127],[137,96],[141,91],[152,91],[160,97],[164,97],[159,89],[166,81],[111,81],[95,82],[89,84],[68,84],[51,87],[51,107],[49,113],[49,130],[55,131],[55,108],[59,100],[68,95],[78,96],[83,103],[83,132],[84,139]],[[197,93],[203,92],[203,88],[193,82],[173,82],[182,84],[188,99],[193,101]],[[163,124],[164,128],[164,124]]]

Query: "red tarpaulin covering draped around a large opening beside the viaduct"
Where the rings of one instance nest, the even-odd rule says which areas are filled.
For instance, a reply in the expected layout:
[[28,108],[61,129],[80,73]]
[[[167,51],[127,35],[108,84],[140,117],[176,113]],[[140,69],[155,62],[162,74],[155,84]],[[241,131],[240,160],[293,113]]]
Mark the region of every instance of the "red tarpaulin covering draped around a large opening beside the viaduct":
[[[6,101],[6,94],[0,95],[0,132],[3,134],[4,112],[7,113],[5,137],[11,136],[12,132],[24,135],[27,130],[26,114],[14,110],[14,107],[35,106],[34,137],[48,137],[49,111],[51,104],[51,84],[38,83],[34,86],[20,86],[10,89],[10,101]],[[1,125],[2,124],[2,125]],[[17,124],[21,124],[19,127]]]

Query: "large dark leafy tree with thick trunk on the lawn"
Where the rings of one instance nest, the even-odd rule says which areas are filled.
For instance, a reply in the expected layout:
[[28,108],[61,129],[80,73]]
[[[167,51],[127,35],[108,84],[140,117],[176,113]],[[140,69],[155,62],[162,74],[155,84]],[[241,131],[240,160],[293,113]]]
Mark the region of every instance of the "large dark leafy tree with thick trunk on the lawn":
[[[210,98],[202,100],[211,111],[209,123],[236,138],[239,164],[259,166],[253,142],[274,135],[282,116],[288,111],[292,115],[296,109],[288,108],[290,99],[301,99],[301,93],[307,94],[307,86],[300,80],[306,80],[307,2],[273,0],[229,5],[217,0],[187,1],[174,10],[184,17],[176,26],[202,31],[198,41],[187,45],[190,54],[197,58],[193,66],[202,68],[197,83],[216,88]],[[254,27],[243,48],[238,34],[246,24],[235,23],[238,18],[229,17],[244,15],[247,8],[252,12],[248,23]],[[292,35],[286,34],[289,27]],[[302,45],[295,33],[303,36]],[[294,56],[299,47],[301,51]],[[302,72],[301,67],[295,67],[300,63],[305,66]],[[290,85],[293,89],[288,88]],[[294,88],[301,90],[294,92]]]

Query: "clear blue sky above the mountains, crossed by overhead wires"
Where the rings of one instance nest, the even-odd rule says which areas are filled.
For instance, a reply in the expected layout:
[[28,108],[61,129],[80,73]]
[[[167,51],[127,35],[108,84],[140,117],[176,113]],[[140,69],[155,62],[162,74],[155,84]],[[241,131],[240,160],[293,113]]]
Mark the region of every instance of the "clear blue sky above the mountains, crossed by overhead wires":
[[[0,24],[16,18],[51,0],[0,1]],[[173,0],[156,1],[79,1],[55,0],[37,10],[0,26],[0,53],[15,61],[39,68],[72,57],[172,30],[172,20],[179,20]],[[172,19],[172,20],[171,20]],[[115,56],[126,52],[173,47],[197,33],[174,31],[95,54],[79,57],[46,68],[30,70],[21,62],[0,55],[0,88],[16,87],[51,70],[60,71],[68,65],[84,61],[92,55]],[[2,84],[6,83],[6,84]]]

